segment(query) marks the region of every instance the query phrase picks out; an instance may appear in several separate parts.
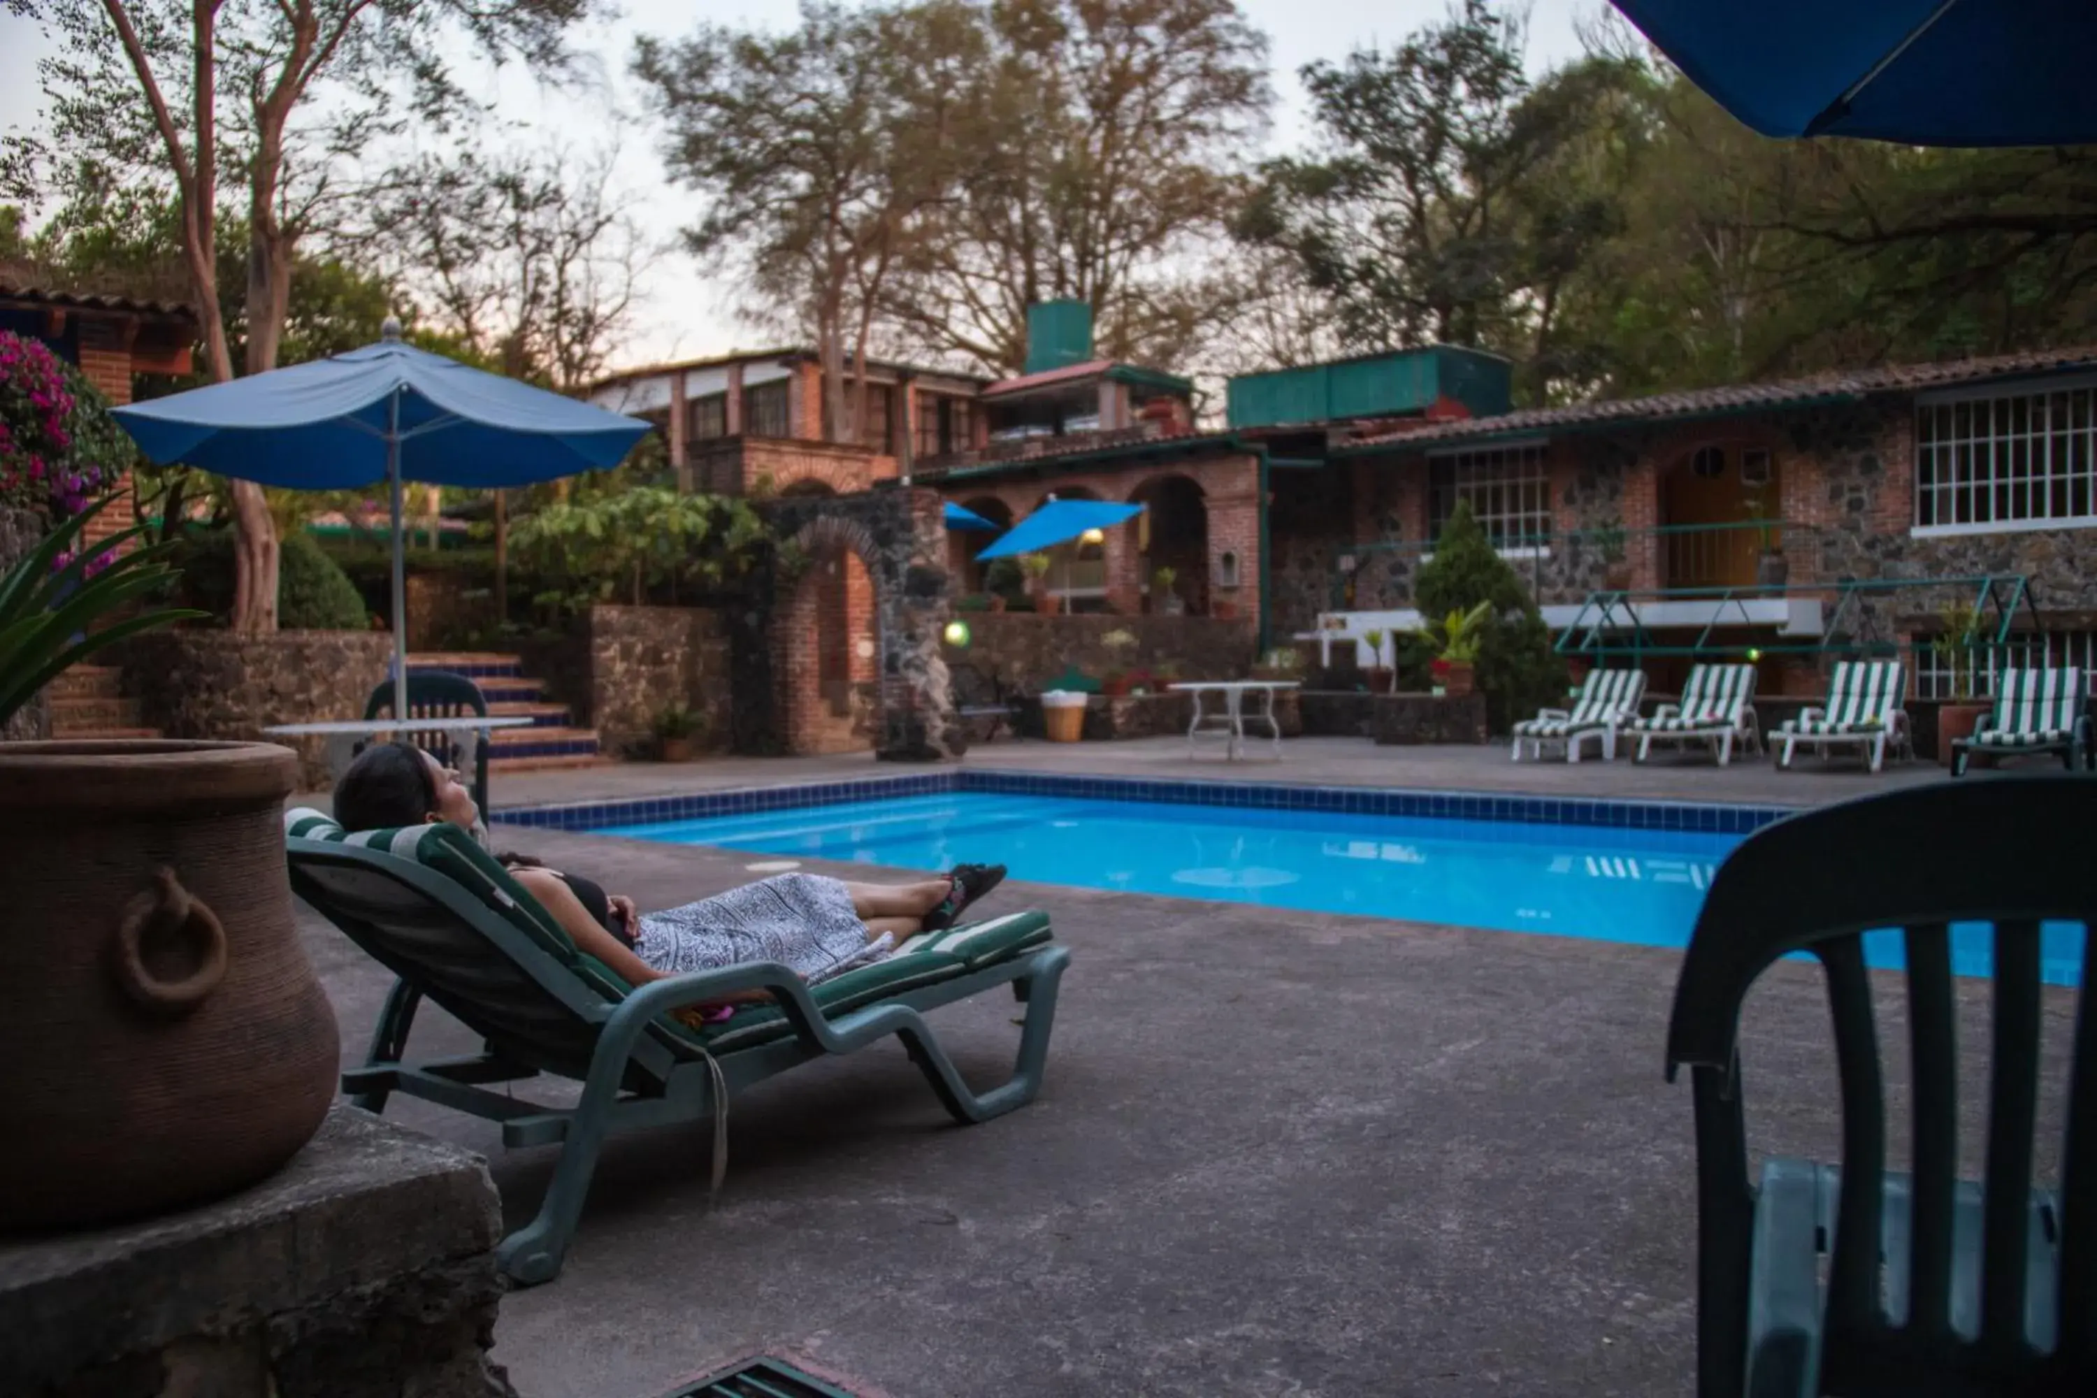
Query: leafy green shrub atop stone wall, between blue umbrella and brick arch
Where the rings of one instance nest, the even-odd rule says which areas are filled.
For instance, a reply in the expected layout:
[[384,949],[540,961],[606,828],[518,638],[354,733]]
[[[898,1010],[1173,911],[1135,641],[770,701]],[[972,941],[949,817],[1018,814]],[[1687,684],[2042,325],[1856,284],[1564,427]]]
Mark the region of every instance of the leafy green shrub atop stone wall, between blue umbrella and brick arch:
[[518,562],[552,589],[554,608],[698,595],[747,576],[772,547],[747,501],[640,486],[587,503],[554,503],[510,530]]

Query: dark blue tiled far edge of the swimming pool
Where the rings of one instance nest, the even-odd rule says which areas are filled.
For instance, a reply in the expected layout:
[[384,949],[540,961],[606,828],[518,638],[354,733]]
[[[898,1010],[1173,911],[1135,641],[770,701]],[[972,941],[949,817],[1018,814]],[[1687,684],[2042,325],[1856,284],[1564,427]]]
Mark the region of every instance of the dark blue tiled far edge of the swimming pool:
[[570,805],[497,807],[491,820],[539,830],[608,830],[671,820],[749,815],[791,807],[841,805],[944,792],[1074,796],[1086,801],[1185,803],[1342,815],[1413,815],[1537,826],[1602,826],[1617,830],[1694,830],[1749,834],[1793,815],[1791,807],[1684,801],[1527,796],[1499,792],[1407,790],[1371,786],[1281,786],[1275,782],[1206,782],[1141,778],[1044,776],[1034,771],[942,769],[916,776],[816,782],[807,786],[744,786],[677,796],[585,801]]

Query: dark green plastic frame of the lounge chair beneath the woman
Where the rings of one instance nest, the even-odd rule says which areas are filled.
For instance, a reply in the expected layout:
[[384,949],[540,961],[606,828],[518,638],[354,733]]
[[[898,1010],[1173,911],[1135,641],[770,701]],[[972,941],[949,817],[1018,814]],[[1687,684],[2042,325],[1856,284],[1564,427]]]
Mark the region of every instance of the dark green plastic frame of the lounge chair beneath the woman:
[[[499,1121],[507,1149],[560,1144],[539,1214],[495,1253],[518,1285],[560,1274],[606,1136],[713,1117],[719,1149],[717,1102],[726,1107],[738,1090],[812,1058],[847,1054],[893,1033],[960,1123],[1004,1115],[1040,1092],[1057,985],[1069,962],[1061,945],[902,989],[835,1019],[824,1017],[801,977],[772,962],[669,977],[608,1000],[436,870],[333,840],[287,838],[285,847],[291,891],[398,977],[365,1067],[342,1075],[352,1102],[384,1111],[392,1092],[405,1092]],[[998,985],[1011,985],[1028,1006],[1019,1056],[1004,1084],[973,1092],[923,1010]],[[788,1033],[715,1054],[702,1035],[669,1019],[749,989],[772,993]],[[424,996],[480,1033],[482,1052],[409,1063],[407,1037]],[[579,1079],[575,1107],[487,1090],[541,1073]]]

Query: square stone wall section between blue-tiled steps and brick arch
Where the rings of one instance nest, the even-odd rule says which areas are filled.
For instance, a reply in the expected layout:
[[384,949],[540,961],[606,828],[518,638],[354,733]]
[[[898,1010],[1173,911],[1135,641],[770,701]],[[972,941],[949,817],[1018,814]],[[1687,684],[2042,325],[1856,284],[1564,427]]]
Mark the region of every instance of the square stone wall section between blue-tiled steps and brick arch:
[[589,608],[589,721],[619,752],[646,748],[654,719],[686,704],[705,719],[700,740],[730,731],[730,648],[719,612],[700,608]]

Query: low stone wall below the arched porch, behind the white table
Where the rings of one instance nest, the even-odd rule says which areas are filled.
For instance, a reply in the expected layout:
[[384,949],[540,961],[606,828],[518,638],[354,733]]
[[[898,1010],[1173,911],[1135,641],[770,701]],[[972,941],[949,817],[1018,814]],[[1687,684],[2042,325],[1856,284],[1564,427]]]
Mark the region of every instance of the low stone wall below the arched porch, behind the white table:
[[[1181,679],[1244,679],[1254,662],[1258,629],[1250,620],[1214,616],[1038,616],[1034,612],[967,612],[969,646],[946,648],[948,664],[969,664],[1007,690],[1036,694],[1042,681],[1076,664],[1093,679],[1176,664]],[[1107,646],[1126,631],[1134,646]]]

